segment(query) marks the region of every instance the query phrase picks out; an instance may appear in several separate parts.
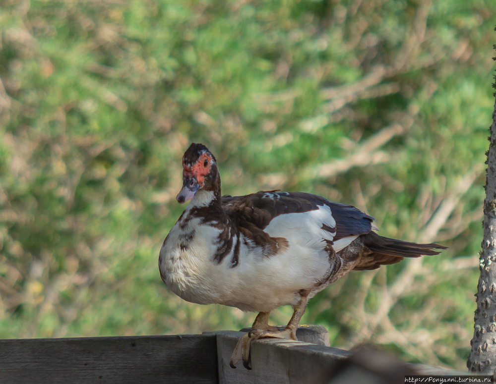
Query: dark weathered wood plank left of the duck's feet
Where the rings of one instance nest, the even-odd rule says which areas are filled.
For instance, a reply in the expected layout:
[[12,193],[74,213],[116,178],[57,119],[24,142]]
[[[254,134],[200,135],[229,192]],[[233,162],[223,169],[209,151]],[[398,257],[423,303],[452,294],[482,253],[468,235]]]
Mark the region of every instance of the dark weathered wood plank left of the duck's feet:
[[0,383],[218,382],[215,335],[0,340]]

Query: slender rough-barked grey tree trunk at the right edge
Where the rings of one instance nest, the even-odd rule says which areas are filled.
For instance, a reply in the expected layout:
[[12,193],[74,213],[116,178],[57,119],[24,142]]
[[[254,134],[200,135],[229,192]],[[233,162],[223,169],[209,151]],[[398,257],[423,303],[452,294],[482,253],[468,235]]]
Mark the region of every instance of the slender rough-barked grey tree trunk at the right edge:
[[484,200],[484,239],[480,252],[481,276],[477,286],[474,337],[467,367],[471,372],[494,374],[496,369],[496,103],[487,152]]

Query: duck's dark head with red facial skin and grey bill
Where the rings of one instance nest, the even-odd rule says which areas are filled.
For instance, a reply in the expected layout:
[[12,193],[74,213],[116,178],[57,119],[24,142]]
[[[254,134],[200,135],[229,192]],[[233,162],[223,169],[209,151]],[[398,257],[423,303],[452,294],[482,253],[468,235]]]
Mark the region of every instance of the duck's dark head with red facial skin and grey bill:
[[200,190],[220,188],[215,156],[203,144],[191,143],[183,155],[183,189],[176,196],[180,204]]

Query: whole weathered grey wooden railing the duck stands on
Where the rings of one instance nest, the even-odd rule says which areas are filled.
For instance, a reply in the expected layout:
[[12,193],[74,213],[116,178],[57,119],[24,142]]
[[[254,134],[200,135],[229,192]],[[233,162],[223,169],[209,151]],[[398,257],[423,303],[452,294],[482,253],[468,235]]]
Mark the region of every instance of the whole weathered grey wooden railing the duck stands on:
[[[0,383],[318,384],[334,383],[336,375],[346,377],[343,367],[350,364],[352,370],[356,368],[353,364],[360,368],[360,360],[353,363],[353,352],[328,346],[323,327],[302,326],[297,332],[302,341],[257,340],[252,343],[252,370],[241,363],[232,369],[229,361],[242,334],[220,330],[194,335],[4,339],[0,340]],[[464,374],[409,365],[388,355],[384,360],[379,351],[366,352],[365,356],[365,368],[355,369],[355,373],[380,376],[380,369],[375,372],[370,366],[381,356],[379,367],[386,367],[385,371],[389,366],[396,371],[403,367],[404,371],[398,371],[400,376]]]

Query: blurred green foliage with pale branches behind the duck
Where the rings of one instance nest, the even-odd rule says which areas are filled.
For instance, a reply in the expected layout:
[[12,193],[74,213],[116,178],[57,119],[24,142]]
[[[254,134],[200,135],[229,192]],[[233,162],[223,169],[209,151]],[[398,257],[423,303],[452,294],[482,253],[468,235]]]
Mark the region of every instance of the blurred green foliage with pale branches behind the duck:
[[303,321],[333,346],[464,369],[495,15],[492,0],[4,0],[0,337],[251,324],[158,273],[195,141],[224,193],[314,192],[383,235],[449,246],[351,273]]

